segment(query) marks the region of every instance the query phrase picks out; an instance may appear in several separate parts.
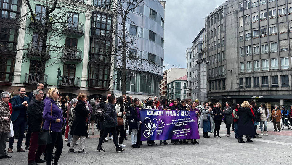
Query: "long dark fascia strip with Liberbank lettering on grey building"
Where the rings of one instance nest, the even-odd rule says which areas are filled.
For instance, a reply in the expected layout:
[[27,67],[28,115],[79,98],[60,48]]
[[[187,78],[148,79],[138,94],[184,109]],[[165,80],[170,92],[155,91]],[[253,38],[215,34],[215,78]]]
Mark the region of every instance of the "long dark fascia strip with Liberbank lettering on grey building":
[[229,95],[229,96],[208,96],[209,99],[245,98],[245,99],[292,99],[292,95]]

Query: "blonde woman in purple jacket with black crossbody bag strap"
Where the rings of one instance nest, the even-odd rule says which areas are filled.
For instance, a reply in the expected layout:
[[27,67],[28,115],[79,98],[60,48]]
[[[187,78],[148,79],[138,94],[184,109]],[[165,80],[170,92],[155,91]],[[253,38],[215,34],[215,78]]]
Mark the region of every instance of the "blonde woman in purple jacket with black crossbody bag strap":
[[[51,164],[51,158],[54,147],[56,147],[55,160],[53,165],[58,164],[58,160],[63,150],[63,136],[62,127],[66,124],[63,117],[63,111],[60,105],[57,103],[60,92],[57,88],[51,88],[48,90],[47,96],[44,99],[44,112],[43,118],[44,131],[51,131],[52,144],[48,144],[46,147],[46,164]],[[52,115],[51,115],[52,109]],[[51,124],[51,127],[50,127]]]

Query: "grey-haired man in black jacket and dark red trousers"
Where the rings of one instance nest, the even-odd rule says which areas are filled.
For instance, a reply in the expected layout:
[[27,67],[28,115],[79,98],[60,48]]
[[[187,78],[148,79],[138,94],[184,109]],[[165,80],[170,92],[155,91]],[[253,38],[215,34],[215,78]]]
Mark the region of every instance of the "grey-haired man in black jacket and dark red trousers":
[[40,158],[46,146],[38,145],[38,132],[41,131],[41,121],[43,119],[44,92],[41,89],[33,91],[33,98],[28,105],[28,129],[31,131],[31,143],[28,151],[28,165],[37,165],[44,163],[45,160]]

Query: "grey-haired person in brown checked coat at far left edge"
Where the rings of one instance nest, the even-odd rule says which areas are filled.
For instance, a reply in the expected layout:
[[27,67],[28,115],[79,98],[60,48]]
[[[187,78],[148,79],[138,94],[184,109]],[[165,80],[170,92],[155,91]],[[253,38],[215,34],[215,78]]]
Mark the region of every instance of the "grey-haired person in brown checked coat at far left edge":
[[6,153],[6,139],[10,133],[10,108],[8,102],[10,100],[9,92],[0,94],[0,159],[11,158]]

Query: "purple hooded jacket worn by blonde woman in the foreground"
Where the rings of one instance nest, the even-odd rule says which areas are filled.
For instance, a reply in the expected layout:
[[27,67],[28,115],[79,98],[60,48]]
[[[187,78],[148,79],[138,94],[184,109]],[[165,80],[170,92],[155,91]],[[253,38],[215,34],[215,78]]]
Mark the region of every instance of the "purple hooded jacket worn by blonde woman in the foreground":
[[[51,104],[52,104],[52,116],[51,116]],[[52,98],[46,96],[44,99],[44,112],[43,118],[45,119],[44,122],[44,129],[49,130],[49,125],[51,122],[51,131],[61,132],[62,127],[66,124],[66,121],[63,117],[63,110],[60,105],[54,101]],[[56,119],[60,119],[60,122],[56,122]]]

